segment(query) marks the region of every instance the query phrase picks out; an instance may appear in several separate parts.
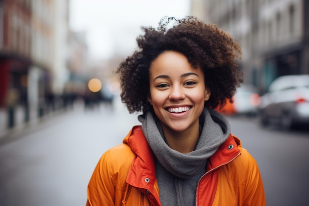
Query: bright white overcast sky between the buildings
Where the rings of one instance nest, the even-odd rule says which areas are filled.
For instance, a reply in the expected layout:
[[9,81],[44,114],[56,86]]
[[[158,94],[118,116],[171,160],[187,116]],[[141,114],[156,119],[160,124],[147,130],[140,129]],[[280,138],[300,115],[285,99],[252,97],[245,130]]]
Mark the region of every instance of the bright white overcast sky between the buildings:
[[70,26],[86,31],[90,56],[130,55],[140,26],[157,27],[163,16],[185,17],[190,0],[70,0]]

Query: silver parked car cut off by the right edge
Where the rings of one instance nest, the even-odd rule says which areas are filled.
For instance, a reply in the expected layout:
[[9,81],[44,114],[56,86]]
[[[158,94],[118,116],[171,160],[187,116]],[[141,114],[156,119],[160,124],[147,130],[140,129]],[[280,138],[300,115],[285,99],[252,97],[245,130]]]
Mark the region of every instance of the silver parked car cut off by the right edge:
[[261,97],[259,118],[262,126],[279,124],[290,129],[309,125],[309,75],[289,75],[275,79]]

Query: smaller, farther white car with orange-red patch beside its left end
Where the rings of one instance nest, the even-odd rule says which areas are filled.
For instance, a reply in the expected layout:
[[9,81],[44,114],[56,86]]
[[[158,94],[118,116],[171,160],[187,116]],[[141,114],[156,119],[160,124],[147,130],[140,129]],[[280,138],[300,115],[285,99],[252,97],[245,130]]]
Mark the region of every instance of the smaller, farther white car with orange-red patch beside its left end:
[[260,104],[259,89],[252,84],[241,83],[233,96],[233,103],[229,101],[223,109],[217,111],[226,115],[255,116]]

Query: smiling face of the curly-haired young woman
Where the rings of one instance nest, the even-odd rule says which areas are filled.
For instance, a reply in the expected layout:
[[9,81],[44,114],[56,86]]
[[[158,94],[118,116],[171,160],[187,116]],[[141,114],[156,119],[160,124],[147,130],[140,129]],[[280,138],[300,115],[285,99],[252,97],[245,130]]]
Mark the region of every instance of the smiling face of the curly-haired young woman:
[[210,96],[200,68],[194,69],[187,57],[165,51],[150,66],[149,102],[162,127],[174,131],[198,128],[204,101]]

